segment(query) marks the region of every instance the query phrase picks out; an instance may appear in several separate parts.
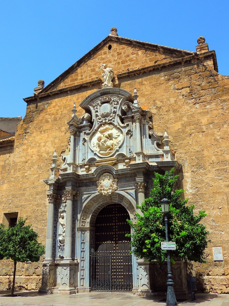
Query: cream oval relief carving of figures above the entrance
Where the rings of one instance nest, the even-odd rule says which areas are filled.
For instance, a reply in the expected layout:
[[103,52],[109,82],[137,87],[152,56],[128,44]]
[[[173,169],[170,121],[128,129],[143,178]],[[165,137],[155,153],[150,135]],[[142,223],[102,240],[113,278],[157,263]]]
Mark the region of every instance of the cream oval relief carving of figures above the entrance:
[[112,124],[101,125],[92,137],[91,144],[94,152],[102,156],[111,155],[123,140],[120,129]]

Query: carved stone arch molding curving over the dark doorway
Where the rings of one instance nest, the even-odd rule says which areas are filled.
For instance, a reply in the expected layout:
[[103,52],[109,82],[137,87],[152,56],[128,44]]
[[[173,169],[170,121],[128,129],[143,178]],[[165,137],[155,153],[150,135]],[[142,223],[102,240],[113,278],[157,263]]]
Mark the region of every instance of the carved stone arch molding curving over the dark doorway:
[[78,221],[78,227],[93,227],[96,217],[100,210],[108,204],[122,204],[128,211],[130,219],[136,222],[136,202],[126,192],[117,190],[112,192],[110,196],[104,196],[96,192],[83,203],[82,213]]

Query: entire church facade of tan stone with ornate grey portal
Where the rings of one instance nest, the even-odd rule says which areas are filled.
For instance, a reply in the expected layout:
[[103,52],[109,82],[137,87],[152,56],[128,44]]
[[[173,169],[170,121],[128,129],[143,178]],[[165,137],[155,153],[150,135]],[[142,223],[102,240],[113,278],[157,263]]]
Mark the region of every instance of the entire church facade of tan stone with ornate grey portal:
[[[13,152],[0,155],[0,221],[27,217],[46,245],[43,260],[18,266],[16,286],[163,291],[165,270],[129,254],[126,219],[136,221],[154,172],[174,167],[212,241],[206,264],[173,265],[174,289],[186,294],[192,274],[200,291],[228,293],[228,92],[203,37],[191,52],[116,28],[46,87],[39,80]],[[6,289],[4,261],[0,274]]]

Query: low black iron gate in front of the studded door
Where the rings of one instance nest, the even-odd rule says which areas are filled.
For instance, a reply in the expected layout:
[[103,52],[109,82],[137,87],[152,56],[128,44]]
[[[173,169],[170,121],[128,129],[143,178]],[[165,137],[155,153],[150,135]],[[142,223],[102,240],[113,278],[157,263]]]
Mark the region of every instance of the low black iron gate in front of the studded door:
[[131,291],[132,256],[129,251],[91,251],[92,291]]

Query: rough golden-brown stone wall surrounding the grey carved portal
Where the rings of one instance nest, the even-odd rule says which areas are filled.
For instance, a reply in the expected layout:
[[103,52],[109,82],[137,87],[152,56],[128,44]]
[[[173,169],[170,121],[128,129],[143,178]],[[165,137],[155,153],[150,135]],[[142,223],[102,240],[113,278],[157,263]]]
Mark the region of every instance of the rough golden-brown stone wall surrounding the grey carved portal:
[[[190,62],[162,65],[157,70],[118,78],[118,73],[128,69],[167,62],[174,56],[157,55],[122,43],[111,43],[108,52],[108,44],[53,89],[101,78],[100,64],[104,62],[115,70],[115,87],[132,94],[136,87],[140,106],[153,114],[154,130],[163,132],[167,128],[170,147],[182,164],[189,204],[194,204],[196,211],[206,210],[208,215],[203,220],[212,240],[206,250],[207,263],[193,263],[190,273],[194,270],[198,276],[200,290],[228,293],[229,77],[214,70],[211,57],[202,60],[196,56]],[[59,156],[69,149],[67,121],[73,102],[80,116],[83,110],[79,103],[99,88],[101,85],[84,87],[28,103],[26,116],[16,129],[14,153],[0,156],[0,222],[4,213],[18,211],[19,216],[28,217],[27,222],[45,244],[48,200],[43,179],[49,177],[54,149]],[[211,248],[215,246],[223,247],[223,262],[213,261]],[[9,278],[12,281],[9,269],[13,272],[13,264],[3,261],[0,289],[8,288]],[[40,282],[41,262],[18,264],[16,289],[38,289]]]

